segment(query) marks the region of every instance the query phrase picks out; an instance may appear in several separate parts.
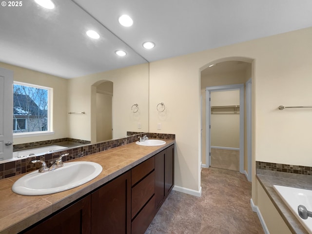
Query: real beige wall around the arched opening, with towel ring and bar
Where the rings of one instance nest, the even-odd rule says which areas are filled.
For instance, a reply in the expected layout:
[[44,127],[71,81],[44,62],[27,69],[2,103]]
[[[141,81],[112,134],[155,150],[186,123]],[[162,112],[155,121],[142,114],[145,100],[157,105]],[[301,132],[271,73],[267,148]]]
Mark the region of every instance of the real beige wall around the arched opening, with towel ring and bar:
[[[177,186],[200,188],[200,71],[212,62],[240,59],[253,62],[253,161],[312,165],[310,111],[277,110],[311,105],[312,28],[307,28],[150,63],[150,132],[176,134]],[[156,111],[159,102],[166,105],[165,116]],[[253,162],[253,180],[254,167]]]

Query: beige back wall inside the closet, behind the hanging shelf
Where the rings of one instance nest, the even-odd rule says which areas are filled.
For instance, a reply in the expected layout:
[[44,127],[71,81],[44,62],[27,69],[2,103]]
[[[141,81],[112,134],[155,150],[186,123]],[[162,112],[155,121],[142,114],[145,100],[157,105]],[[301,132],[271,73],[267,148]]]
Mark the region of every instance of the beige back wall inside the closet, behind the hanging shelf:
[[[239,90],[211,92],[211,106],[239,106]],[[211,146],[239,148],[239,109],[215,109],[211,114]]]

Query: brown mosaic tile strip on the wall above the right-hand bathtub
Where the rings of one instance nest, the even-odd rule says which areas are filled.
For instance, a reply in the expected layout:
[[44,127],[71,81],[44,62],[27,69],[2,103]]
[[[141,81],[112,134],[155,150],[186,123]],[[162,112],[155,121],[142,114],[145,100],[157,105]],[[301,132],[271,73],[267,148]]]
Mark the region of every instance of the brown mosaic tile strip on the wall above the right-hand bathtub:
[[260,162],[256,161],[256,169],[276,171],[276,172],[286,172],[292,174],[301,174],[301,175],[312,175],[312,167],[307,166],[297,166],[273,162]]

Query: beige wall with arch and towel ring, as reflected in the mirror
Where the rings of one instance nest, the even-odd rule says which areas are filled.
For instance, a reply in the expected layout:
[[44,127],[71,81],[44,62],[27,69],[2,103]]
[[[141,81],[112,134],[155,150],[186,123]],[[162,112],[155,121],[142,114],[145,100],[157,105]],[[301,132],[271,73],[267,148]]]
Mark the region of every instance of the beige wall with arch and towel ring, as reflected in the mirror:
[[[96,142],[96,85],[109,80],[113,85],[113,138],[125,137],[126,131],[148,132],[148,70],[147,63],[101,72],[69,80],[68,111],[85,115],[71,115],[69,136]],[[138,104],[133,113],[131,106]],[[137,123],[141,123],[141,129]]]

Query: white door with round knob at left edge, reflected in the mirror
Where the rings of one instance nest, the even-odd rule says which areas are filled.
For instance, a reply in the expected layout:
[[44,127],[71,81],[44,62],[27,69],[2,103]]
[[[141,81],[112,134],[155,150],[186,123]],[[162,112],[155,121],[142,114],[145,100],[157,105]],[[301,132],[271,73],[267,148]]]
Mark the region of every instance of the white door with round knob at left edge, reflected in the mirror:
[[13,154],[13,71],[0,68],[0,161]]

